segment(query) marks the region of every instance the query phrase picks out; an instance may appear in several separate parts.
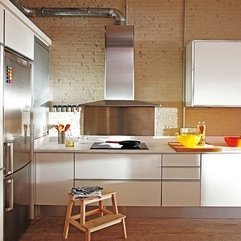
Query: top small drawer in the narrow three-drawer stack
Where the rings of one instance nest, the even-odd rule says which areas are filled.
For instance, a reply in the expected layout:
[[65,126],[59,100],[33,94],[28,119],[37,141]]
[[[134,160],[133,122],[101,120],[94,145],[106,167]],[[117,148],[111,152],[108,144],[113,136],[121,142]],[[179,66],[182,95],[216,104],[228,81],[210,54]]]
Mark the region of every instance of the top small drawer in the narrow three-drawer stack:
[[200,154],[164,154],[163,166],[200,166]]

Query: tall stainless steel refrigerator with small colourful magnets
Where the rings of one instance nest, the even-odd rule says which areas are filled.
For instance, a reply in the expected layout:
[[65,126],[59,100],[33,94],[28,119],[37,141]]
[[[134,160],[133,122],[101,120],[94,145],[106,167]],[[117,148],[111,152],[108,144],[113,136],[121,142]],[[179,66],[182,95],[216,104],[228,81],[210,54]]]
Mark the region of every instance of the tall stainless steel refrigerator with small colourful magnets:
[[32,62],[2,51],[4,241],[17,241],[29,224],[32,143]]

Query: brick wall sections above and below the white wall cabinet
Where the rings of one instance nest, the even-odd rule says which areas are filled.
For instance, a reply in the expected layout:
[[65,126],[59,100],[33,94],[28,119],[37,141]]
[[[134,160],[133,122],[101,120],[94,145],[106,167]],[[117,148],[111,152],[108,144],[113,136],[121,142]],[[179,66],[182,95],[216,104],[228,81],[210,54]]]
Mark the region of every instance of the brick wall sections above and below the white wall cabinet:
[[[241,1],[186,0],[185,43],[193,39],[241,39]],[[224,96],[225,98],[225,96]],[[186,125],[206,120],[209,135],[240,135],[240,108],[188,108]]]

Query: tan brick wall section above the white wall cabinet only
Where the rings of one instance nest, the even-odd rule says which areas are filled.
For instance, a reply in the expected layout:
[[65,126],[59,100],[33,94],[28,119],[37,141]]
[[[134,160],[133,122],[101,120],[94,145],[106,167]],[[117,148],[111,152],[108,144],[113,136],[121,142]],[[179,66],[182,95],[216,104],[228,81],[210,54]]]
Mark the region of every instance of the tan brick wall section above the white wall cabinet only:
[[241,1],[186,0],[185,42],[241,39]]

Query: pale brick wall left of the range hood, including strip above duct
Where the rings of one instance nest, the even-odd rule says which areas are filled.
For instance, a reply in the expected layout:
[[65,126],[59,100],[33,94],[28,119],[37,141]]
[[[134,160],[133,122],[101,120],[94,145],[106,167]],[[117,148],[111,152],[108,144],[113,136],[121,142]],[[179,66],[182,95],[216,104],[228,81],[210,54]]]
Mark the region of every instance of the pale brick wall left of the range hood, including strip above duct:
[[[124,12],[124,1],[22,1],[31,7],[101,7]],[[33,5],[34,4],[34,5]],[[112,18],[33,18],[52,40],[53,102],[85,103],[104,98],[104,31]]]

